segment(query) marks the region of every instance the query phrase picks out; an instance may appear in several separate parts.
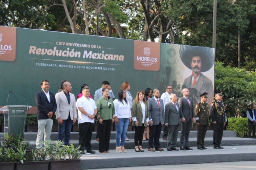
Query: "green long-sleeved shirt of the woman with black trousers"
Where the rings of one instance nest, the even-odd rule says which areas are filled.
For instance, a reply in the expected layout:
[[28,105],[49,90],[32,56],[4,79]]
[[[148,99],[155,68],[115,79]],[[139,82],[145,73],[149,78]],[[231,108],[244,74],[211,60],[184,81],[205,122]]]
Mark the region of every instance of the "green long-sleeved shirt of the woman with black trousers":
[[112,98],[108,99],[108,101],[112,104],[110,106],[110,108],[108,108],[108,103],[103,98],[103,96],[97,100],[97,104],[96,104],[96,106],[98,108],[97,114],[100,115],[100,118],[102,120],[112,119],[113,115],[115,114],[115,106],[114,106]]

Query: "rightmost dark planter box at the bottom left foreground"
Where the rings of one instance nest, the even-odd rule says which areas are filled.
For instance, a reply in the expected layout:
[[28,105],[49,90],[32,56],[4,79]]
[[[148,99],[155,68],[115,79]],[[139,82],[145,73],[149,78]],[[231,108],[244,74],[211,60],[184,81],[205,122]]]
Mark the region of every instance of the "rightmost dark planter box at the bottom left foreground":
[[51,160],[48,170],[79,170],[80,159],[78,160]]

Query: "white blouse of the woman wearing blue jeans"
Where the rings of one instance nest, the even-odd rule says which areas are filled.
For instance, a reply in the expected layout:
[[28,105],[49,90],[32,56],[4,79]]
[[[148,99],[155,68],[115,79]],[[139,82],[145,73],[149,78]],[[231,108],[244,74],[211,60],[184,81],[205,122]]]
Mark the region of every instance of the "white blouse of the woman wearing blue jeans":
[[119,102],[118,99],[114,100],[114,106],[115,106],[115,117],[117,116],[118,119],[125,119],[125,118],[130,118],[132,117],[131,109],[130,109],[130,104],[127,101],[127,104],[125,100],[122,102]]

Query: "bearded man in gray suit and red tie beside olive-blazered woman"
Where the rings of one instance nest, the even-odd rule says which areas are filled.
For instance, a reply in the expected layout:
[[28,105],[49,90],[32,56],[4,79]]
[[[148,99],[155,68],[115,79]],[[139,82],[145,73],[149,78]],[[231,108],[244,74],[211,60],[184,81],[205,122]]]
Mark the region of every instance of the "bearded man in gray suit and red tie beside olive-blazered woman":
[[160,148],[160,135],[162,125],[164,124],[164,102],[160,99],[160,92],[157,89],[153,90],[153,98],[148,99],[148,114],[149,114],[149,140],[148,140],[148,151],[164,151]]

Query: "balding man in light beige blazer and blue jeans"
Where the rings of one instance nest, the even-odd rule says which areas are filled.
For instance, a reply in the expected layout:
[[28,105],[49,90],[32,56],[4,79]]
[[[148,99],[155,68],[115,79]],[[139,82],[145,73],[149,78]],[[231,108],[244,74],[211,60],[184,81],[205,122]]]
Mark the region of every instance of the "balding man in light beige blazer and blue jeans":
[[69,145],[70,132],[72,124],[76,123],[76,98],[71,93],[72,86],[70,82],[63,83],[63,90],[55,95],[57,109],[56,119],[58,119],[59,132],[58,141],[63,141],[65,131],[64,145]]

